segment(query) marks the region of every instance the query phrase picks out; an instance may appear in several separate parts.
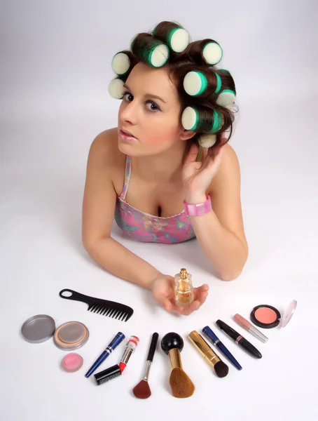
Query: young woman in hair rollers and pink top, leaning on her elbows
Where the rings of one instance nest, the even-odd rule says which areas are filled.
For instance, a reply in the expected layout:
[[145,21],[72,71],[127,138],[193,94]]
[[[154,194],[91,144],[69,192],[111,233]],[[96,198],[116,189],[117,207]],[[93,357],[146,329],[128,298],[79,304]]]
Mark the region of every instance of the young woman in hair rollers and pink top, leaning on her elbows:
[[240,166],[227,143],[236,91],[230,72],[215,66],[221,56],[216,41],[190,43],[174,22],[138,34],[112,62],[118,127],[97,135],[88,156],[85,249],[107,271],[151,290],[167,312],[191,314],[209,287],[195,288],[191,305],[177,307],[173,277],[114,240],[111,226],[115,218],[138,241],[197,239],[221,279],[242,272],[248,246]]

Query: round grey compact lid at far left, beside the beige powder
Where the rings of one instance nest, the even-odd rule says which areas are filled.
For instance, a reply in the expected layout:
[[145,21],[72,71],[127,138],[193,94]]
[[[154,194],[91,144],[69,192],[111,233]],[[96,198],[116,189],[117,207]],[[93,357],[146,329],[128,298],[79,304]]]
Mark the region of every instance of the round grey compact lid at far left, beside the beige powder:
[[37,314],[23,323],[21,333],[27,342],[39,344],[50,339],[55,332],[55,321],[47,314]]

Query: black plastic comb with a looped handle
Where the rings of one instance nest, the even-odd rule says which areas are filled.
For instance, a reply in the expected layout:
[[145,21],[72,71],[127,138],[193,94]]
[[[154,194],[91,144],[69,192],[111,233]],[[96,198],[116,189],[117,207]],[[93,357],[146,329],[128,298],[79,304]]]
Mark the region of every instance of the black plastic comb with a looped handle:
[[[62,295],[63,293],[71,293],[71,295],[67,297],[66,295]],[[128,321],[134,312],[132,307],[120,304],[120,302],[88,297],[88,295],[76,293],[76,291],[69,290],[67,288],[60,291],[60,297],[65,300],[85,302],[88,304],[88,311],[96,314],[102,314],[102,316],[112,317],[113,319],[120,321]]]

